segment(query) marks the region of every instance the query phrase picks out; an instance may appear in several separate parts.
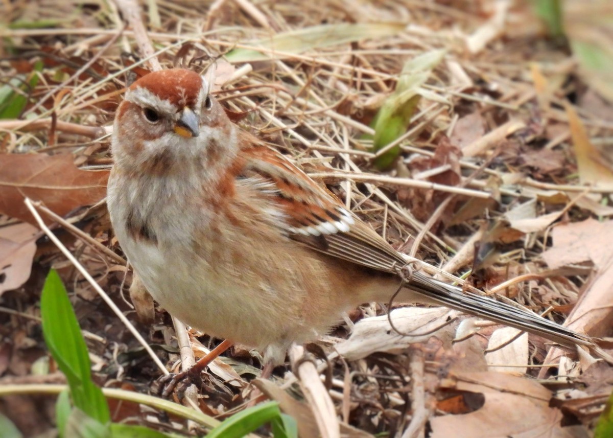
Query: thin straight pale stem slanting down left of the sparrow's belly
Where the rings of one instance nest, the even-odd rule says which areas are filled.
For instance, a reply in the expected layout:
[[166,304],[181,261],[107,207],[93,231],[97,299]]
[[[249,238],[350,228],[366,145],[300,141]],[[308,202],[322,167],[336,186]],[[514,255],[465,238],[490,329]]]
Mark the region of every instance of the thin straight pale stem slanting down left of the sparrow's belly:
[[36,222],[38,223],[40,229],[42,229],[42,231],[44,231],[45,234],[47,234],[47,237],[49,237],[51,242],[53,242],[59,248],[59,250],[64,254],[64,256],[66,256],[66,258],[69,259],[70,263],[72,263],[74,267],[77,268],[77,271],[79,271],[81,275],[85,277],[85,279],[94,288],[94,290],[100,295],[100,297],[113,310],[115,315],[117,315],[117,317],[120,318],[121,322],[124,323],[126,328],[128,328],[128,330],[132,332],[136,340],[139,341],[139,344],[142,345],[143,348],[145,348],[145,350],[147,351],[147,353],[151,356],[151,359],[153,359],[154,363],[158,366],[160,371],[162,371],[162,373],[164,373],[165,375],[168,375],[169,374],[168,370],[166,369],[164,364],[162,364],[162,362],[160,361],[158,356],[156,356],[153,350],[151,350],[151,347],[149,346],[149,344],[147,344],[147,341],[143,339],[142,336],[140,336],[140,333],[137,331],[137,329],[134,328],[132,323],[128,321],[128,318],[126,318],[126,316],[121,312],[121,310],[115,305],[112,299],[109,298],[109,295],[107,295],[107,293],[104,290],[102,290],[102,288],[98,285],[98,283],[96,283],[96,280],[94,280],[93,277],[89,275],[89,272],[87,272],[85,267],[83,267],[82,264],[78,263],[78,260],[70,253],[68,248],[66,248],[62,244],[62,242],[60,242],[59,239],[55,236],[55,234],[51,232],[51,230],[47,227],[47,225],[45,225],[45,222],[40,217],[39,212],[37,212],[36,208],[34,208],[35,203],[32,202],[31,199],[29,198],[26,198],[24,202],[26,204],[26,207],[28,207],[28,210],[30,210],[30,212],[32,213],[32,216],[34,216],[34,219],[36,219]]

